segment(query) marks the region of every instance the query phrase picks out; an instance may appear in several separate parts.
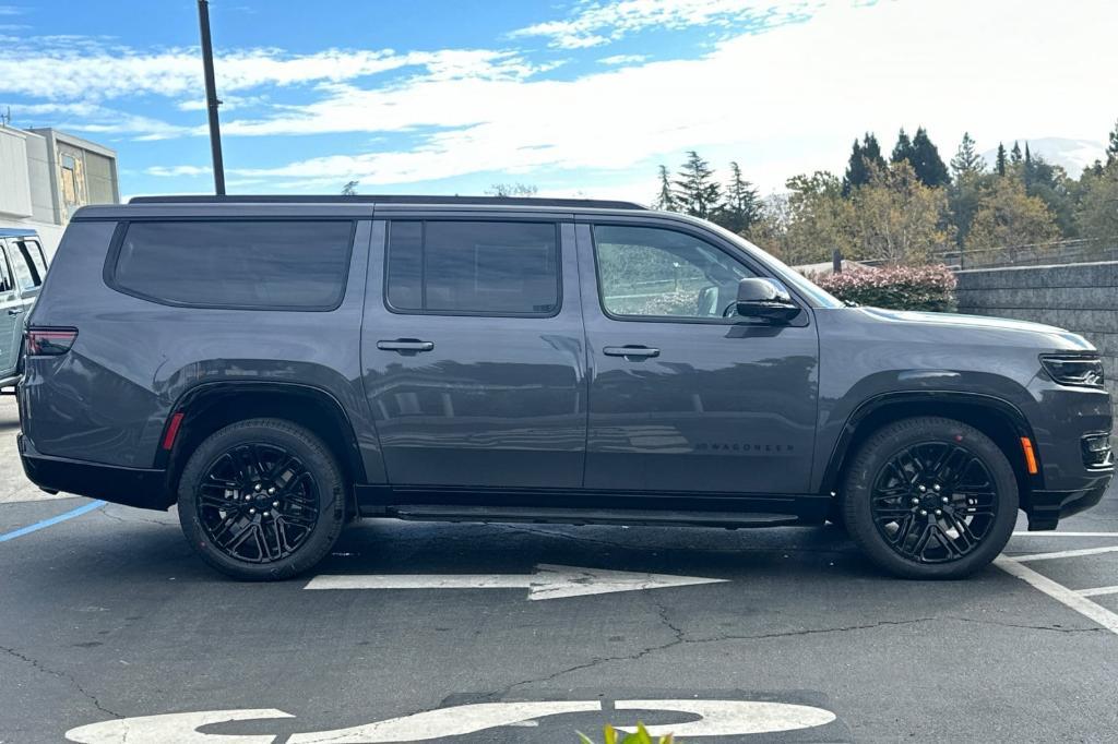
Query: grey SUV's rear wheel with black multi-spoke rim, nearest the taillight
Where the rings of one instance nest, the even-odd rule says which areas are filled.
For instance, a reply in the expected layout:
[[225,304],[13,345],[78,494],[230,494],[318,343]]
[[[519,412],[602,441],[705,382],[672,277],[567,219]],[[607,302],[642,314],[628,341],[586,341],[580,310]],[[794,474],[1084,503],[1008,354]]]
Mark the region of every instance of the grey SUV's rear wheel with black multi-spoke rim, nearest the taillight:
[[306,429],[250,419],[207,438],[179,480],[179,522],[211,566],[247,581],[290,579],[333,547],[345,518],[338,462]]

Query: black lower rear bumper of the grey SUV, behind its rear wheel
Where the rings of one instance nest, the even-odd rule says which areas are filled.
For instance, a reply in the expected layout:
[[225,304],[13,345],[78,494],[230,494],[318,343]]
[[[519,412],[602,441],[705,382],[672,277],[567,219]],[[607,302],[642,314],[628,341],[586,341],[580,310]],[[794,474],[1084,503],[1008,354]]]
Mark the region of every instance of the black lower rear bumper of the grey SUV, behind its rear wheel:
[[46,492],[64,492],[145,509],[162,511],[173,503],[173,498],[168,496],[165,470],[125,468],[41,455],[23,435],[17,437],[17,442],[23,473]]

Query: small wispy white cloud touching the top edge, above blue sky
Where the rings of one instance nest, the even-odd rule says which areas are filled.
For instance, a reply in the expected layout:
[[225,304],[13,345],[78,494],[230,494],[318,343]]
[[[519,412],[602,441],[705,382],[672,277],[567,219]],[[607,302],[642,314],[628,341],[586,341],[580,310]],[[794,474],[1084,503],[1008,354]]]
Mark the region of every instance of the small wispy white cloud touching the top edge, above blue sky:
[[544,21],[511,34],[544,37],[553,47],[580,49],[616,41],[647,28],[751,22],[770,27],[809,15],[814,0],[613,0],[580,3],[566,20]]

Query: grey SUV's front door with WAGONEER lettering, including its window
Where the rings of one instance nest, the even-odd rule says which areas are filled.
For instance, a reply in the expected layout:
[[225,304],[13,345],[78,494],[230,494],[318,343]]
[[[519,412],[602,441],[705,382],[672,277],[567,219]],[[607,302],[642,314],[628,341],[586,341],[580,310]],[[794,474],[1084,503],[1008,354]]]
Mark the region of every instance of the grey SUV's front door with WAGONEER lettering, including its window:
[[[732,317],[761,271],[688,226],[579,223],[591,357],[586,487],[807,493],[818,342]],[[730,314],[731,317],[723,317]]]

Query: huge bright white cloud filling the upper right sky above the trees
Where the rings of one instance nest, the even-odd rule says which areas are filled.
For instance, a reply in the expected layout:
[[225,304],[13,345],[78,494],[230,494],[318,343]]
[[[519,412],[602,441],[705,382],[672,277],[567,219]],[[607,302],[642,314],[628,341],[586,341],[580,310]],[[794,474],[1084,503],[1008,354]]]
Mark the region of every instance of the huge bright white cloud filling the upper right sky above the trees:
[[[850,142],[868,130],[891,147],[900,126],[927,126],[945,160],[964,131],[982,147],[1053,133],[1098,139],[1116,113],[1102,94],[1118,64],[1116,25],[1118,6],[1108,2],[835,4],[804,23],[729,38],[699,59],[572,80],[337,85],[323,101],[272,118],[234,120],[225,131],[425,133],[408,149],[238,171],[297,188],[492,170],[530,174],[522,180],[576,169],[652,171],[650,163],[694,147],[739,160],[769,190],[796,172],[841,169]],[[1091,65],[1082,64],[1082,48],[1095,50]]]

